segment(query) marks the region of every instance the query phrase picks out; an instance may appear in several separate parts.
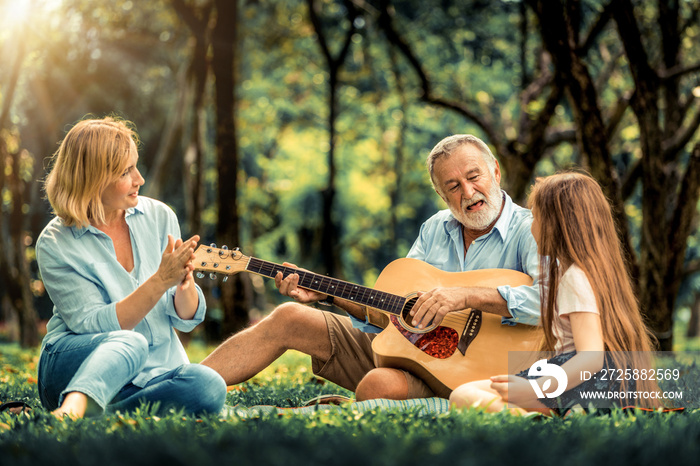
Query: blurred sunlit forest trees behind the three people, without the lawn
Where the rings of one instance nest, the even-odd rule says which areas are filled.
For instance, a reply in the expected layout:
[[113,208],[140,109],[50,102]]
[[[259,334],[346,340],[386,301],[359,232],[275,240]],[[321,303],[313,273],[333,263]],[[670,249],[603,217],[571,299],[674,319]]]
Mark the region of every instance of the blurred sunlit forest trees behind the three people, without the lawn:
[[[116,113],[143,195],[183,237],[372,285],[443,208],[443,137],[493,149],[523,204],[536,176],[603,185],[660,347],[700,324],[698,0],[0,0],[0,321],[51,315],[33,245],[66,131]],[[217,342],[279,299],[198,280]],[[266,291],[267,290],[267,291]]]

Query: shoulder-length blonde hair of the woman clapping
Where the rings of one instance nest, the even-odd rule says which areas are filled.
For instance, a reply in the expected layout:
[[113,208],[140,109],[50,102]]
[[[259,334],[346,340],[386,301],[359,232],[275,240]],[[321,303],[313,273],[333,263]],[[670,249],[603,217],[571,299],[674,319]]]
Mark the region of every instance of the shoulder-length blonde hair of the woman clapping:
[[102,192],[129,162],[133,124],[115,117],[86,119],[68,131],[52,158],[44,189],[66,226],[104,223]]

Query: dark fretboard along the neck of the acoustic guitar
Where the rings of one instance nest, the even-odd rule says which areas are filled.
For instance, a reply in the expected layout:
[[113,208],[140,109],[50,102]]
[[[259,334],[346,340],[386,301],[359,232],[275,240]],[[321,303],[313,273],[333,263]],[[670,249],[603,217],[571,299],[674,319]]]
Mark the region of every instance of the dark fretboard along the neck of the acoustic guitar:
[[263,261],[254,257],[250,258],[246,270],[268,278],[275,278],[278,272],[282,272],[282,276],[284,277],[296,273],[299,275],[299,286],[302,288],[318,291],[323,294],[335,296],[336,298],[347,299],[348,301],[353,301],[363,306],[370,306],[395,315],[400,315],[401,310],[406,304],[406,298],[403,296],[385,293],[373,288],[355,285],[354,283],[337,280],[312,272],[284,267],[274,262]]

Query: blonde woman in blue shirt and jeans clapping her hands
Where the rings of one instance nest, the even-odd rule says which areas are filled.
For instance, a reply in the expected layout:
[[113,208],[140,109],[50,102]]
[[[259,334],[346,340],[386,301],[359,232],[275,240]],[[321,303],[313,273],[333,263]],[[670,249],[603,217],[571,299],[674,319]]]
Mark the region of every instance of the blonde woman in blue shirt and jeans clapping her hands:
[[54,303],[39,361],[41,402],[82,417],[129,411],[218,412],[226,385],[189,364],[175,330],[202,322],[192,277],[199,237],[180,239],[173,211],[139,196],[137,136],[115,118],[76,124],[53,158],[46,193],[56,217],[37,241]]

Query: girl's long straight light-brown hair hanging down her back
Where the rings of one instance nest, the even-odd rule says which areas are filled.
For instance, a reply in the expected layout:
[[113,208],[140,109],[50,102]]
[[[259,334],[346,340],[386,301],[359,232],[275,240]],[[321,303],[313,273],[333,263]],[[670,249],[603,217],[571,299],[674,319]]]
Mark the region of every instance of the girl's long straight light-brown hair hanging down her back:
[[[553,351],[556,342],[552,323],[560,266],[576,264],[593,288],[603,343],[615,367],[651,369],[652,337],[639,312],[610,204],[600,185],[582,173],[538,178],[528,207],[540,227],[539,253],[547,258],[540,261],[540,276],[549,277],[548,287],[544,281],[540,283],[543,349]],[[623,381],[622,390],[625,387]],[[655,391],[658,387],[651,381],[639,380],[636,389]]]

